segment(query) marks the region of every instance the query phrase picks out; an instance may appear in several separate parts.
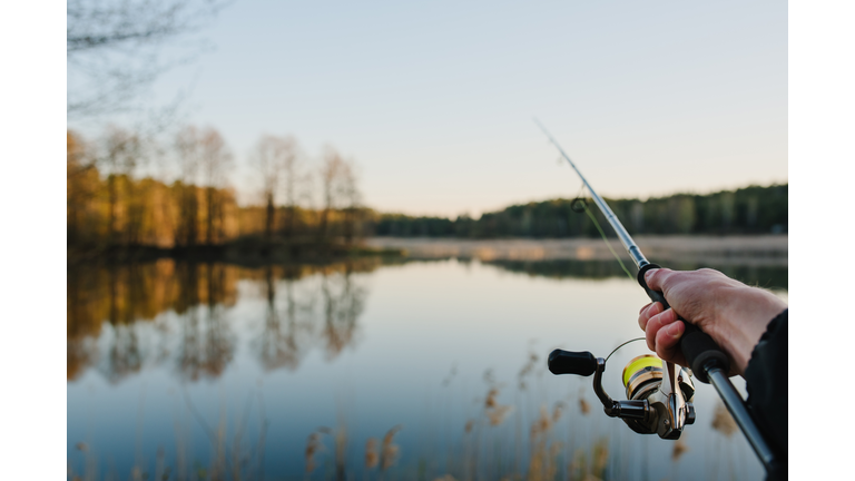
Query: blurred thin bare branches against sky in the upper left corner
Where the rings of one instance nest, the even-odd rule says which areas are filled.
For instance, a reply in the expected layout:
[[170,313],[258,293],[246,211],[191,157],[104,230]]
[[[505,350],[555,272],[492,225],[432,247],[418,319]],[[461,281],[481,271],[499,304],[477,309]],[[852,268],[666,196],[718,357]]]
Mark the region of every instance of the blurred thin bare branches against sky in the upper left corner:
[[[198,31],[220,0],[68,0],[67,112],[89,117],[127,109],[159,73],[193,59],[199,46],[161,61],[163,46]],[[174,49],[175,50],[175,49]]]

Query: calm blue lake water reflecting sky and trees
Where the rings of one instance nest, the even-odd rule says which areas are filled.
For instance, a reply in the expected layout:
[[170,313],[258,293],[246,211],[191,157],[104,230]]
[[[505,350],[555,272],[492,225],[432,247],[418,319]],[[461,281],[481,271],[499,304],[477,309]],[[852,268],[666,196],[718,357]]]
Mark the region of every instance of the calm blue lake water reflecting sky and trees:
[[[719,267],[787,298],[786,263]],[[613,261],[69,266],[69,479],[761,479],[711,386],[675,442],[547,371],[647,302]]]

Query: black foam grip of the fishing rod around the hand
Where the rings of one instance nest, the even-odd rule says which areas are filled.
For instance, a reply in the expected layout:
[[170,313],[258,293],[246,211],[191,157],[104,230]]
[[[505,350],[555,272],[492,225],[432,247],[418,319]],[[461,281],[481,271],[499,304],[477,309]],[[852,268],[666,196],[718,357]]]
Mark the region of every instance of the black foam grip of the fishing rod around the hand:
[[[656,264],[648,264],[641,267],[638,271],[638,283],[643,287],[651,302],[661,303],[662,310],[667,310],[670,305],[668,304],[668,301],[665,300],[662,293],[652,291],[647,286],[647,281],[645,281],[645,273],[655,268],[661,267]],[[709,334],[702,332],[682,317],[678,316],[677,318],[682,321],[686,325],[686,331],[684,331],[682,337],[680,337],[680,352],[682,352],[682,355],[686,357],[686,363],[689,364],[688,366],[691,367],[691,372],[698,381],[709,384],[709,379],[707,377],[705,369],[707,366],[717,366],[724,372],[730,371],[730,360],[727,357],[727,354],[721,351],[721,347],[712,341],[712,337],[710,337]]]

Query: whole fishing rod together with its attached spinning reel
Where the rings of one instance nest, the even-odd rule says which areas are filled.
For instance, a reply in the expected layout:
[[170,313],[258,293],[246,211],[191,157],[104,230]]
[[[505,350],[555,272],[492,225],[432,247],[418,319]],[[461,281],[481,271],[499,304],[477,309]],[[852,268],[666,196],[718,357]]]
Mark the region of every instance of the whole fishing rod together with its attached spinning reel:
[[[564,153],[564,149],[538,119],[534,119],[534,122],[582,179],[594,204],[617,233],[620,243],[623,244],[630,258],[638,267],[636,277],[638,284],[641,285],[651,302],[661,303],[662,310],[669,308],[662,293],[648,287],[645,281],[645,273],[660,268],[660,266],[650,263],[641,254],[641,249],[632,240],[627,229],[611,212],[606,200],[597,194],[588,179],[579,171],[570,156]],[[667,361],[661,361],[661,366],[659,366],[659,360],[649,354],[638,356],[623,369],[623,385],[627,390],[627,397],[629,397],[627,401],[615,401],[606,394],[602,389],[602,372],[606,370],[606,360],[602,357],[594,359],[590,352],[554,350],[549,355],[549,370],[553,374],[582,376],[594,374],[593,390],[602,402],[607,415],[622,419],[636,432],[657,433],[662,439],[671,440],[679,439],[682,429],[695,422],[695,409],[691,403],[695,389],[690,380],[690,374],[694,374],[698,381],[712,384],[766,472],[776,472],[780,469],[778,460],[748,412],[741,395],[727,376],[727,372],[730,370],[729,359],[712,341],[712,337],[694,324],[685,322],[682,317],[678,318],[684,321],[686,325],[679,347],[691,369],[691,373]]]

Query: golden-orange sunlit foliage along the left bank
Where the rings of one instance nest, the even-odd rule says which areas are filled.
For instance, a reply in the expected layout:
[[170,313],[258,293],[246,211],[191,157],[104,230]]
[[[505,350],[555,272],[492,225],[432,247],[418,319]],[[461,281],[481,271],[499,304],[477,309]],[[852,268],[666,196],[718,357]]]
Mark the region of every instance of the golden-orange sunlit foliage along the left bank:
[[330,194],[335,198],[351,196],[350,203],[327,204],[320,210],[295,204],[238,207],[234,189],[226,186],[232,157],[219,134],[187,128],[181,135],[177,143],[181,146],[177,153],[180,175],[166,184],[135,177],[145,147],[134,134],[109,129],[97,150],[79,135],[67,131],[68,245],[210,246],[239,237],[269,237],[271,228],[286,236],[320,233],[323,238],[344,237],[346,243],[363,235],[362,223],[372,214],[356,206],[352,176],[345,183],[346,192]]

